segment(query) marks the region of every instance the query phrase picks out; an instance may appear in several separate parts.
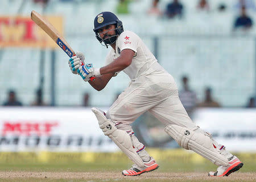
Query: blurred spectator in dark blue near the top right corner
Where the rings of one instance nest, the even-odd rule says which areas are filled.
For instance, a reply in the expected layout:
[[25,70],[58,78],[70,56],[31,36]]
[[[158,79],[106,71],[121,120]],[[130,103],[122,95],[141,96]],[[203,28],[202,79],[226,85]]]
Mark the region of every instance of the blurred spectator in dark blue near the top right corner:
[[253,26],[253,21],[249,16],[246,14],[245,6],[241,9],[241,15],[238,16],[234,23],[234,30],[237,28],[243,28],[243,30],[247,30]]

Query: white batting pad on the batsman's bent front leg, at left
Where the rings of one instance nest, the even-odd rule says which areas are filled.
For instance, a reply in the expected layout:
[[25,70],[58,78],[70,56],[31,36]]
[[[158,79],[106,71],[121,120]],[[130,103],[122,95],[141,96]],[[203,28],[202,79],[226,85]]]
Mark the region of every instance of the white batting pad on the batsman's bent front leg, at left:
[[133,160],[135,164],[143,168],[144,163],[133,148],[130,136],[124,130],[117,129],[114,122],[108,120],[101,109],[92,108],[92,111],[97,117],[98,125],[102,129],[105,136],[111,138],[119,149],[123,151],[123,153]]

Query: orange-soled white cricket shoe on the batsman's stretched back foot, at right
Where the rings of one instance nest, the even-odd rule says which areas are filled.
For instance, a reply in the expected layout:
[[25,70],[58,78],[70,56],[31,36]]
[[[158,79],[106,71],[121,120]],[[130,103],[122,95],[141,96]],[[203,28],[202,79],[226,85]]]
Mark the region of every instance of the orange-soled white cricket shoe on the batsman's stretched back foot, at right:
[[230,173],[238,171],[241,167],[243,167],[243,163],[237,156],[233,155],[228,166],[219,166],[216,172],[209,172],[208,176],[228,176]]

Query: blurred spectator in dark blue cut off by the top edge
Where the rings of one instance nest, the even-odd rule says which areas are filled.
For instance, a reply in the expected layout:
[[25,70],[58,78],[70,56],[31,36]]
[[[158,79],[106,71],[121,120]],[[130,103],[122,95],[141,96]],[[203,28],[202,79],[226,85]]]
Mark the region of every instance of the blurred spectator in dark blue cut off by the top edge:
[[183,5],[178,0],[174,0],[167,5],[166,15],[168,18],[174,18],[175,16],[181,18],[183,15]]

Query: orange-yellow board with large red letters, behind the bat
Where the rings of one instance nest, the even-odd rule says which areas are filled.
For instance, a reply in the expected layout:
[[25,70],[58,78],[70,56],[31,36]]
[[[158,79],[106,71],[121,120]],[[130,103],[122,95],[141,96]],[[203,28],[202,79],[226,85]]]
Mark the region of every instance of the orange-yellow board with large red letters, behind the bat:
[[[47,16],[49,22],[63,35],[63,19]],[[30,17],[0,16],[1,47],[57,48],[55,42]]]

